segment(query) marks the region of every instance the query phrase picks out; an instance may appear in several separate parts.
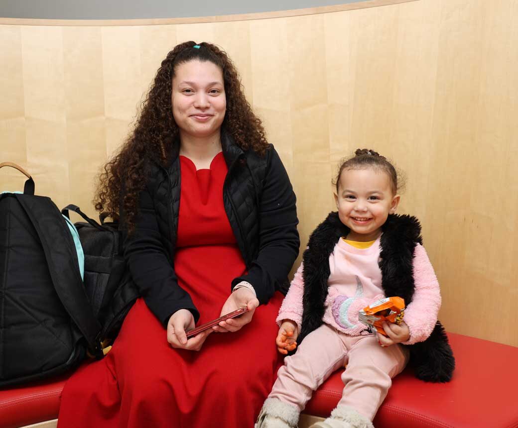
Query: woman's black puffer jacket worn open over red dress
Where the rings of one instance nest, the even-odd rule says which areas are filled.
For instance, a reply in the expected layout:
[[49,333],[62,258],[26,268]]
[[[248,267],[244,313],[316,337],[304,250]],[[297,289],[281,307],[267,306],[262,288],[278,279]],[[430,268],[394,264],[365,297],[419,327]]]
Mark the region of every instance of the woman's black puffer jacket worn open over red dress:
[[[248,281],[260,303],[275,290],[285,291],[287,274],[297,258],[296,198],[284,166],[270,145],[264,157],[244,152],[222,132],[228,166],[223,203],[248,274],[235,278],[228,292]],[[149,180],[139,199],[135,232],[125,235],[124,255],[146,304],[164,324],[178,309],[199,313],[177,281],[174,256],[180,208],[179,144],[171,165],[149,166]],[[285,287],[285,288],[284,288]]]

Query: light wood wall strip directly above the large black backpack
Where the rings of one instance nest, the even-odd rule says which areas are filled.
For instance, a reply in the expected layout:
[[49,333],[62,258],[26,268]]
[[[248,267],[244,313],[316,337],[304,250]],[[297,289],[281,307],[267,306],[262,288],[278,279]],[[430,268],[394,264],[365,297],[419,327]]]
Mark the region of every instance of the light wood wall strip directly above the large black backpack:
[[63,205],[70,197],[66,140],[63,28],[22,27],[26,169],[38,193],[52,189]]

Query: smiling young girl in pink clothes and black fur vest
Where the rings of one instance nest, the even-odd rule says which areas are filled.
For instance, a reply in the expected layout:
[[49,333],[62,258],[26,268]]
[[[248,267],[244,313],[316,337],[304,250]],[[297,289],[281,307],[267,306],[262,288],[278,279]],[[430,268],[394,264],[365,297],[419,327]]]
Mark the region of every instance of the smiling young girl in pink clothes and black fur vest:
[[[312,392],[344,365],[338,406],[312,428],[372,427],[409,359],[420,379],[451,379],[453,353],[437,321],[439,284],[418,220],[395,214],[397,189],[393,165],[372,150],[358,149],[341,165],[338,212],[311,234],[277,317],[279,352],[298,350],[280,368],[256,428],[295,427]],[[358,321],[358,311],[392,296],[405,299],[406,311],[399,325],[383,323],[386,336]]]

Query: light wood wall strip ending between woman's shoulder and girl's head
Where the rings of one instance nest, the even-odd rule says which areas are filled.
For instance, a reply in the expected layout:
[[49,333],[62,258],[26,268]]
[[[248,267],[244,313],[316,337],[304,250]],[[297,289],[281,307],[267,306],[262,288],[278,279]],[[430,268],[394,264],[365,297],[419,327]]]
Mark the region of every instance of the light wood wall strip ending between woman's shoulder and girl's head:
[[292,182],[298,197],[297,209],[300,218],[304,218],[299,232],[307,237],[323,219],[322,211],[315,208],[329,206],[330,202],[328,176],[317,172],[326,171],[329,164],[324,16],[290,18],[286,33],[291,80]]

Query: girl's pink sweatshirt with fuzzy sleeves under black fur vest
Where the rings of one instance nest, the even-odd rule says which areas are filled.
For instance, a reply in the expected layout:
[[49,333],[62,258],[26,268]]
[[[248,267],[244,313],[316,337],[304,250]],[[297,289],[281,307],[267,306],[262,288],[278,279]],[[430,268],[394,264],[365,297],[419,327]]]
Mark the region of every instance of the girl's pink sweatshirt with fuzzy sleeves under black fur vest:
[[[366,334],[366,326],[358,321],[358,311],[385,296],[381,288],[380,238],[369,248],[355,248],[342,239],[329,256],[330,275],[323,321],[338,331],[353,336]],[[293,278],[277,317],[290,319],[300,328],[303,313],[304,265],[301,264]],[[424,341],[434,329],[441,306],[439,283],[434,268],[422,245],[414,249],[413,276],[415,291],[407,305],[404,321],[410,330],[411,345]]]

